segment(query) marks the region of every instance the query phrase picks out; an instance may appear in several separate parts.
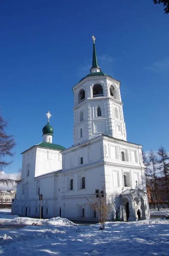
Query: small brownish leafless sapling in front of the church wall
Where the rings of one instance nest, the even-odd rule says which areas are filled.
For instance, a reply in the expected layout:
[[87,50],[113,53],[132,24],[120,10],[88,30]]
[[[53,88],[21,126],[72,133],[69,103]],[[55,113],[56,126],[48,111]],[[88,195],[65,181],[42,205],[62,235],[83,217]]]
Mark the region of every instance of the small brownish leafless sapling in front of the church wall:
[[112,203],[108,202],[106,196],[105,186],[103,189],[95,195],[92,195],[91,199],[87,198],[89,206],[97,213],[97,217],[101,224],[104,224],[109,218],[111,212]]

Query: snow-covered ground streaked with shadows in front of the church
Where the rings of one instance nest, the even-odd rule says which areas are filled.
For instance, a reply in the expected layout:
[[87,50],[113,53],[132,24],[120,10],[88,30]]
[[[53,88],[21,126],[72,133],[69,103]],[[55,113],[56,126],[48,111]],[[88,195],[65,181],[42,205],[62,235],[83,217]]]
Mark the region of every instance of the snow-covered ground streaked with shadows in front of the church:
[[[0,230],[0,255],[10,256],[147,256],[169,255],[169,220],[106,222],[73,225],[64,218],[39,220],[11,217],[2,210],[0,222],[37,223],[15,230]],[[3,218],[2,218],[3,217]],[[7,217],[7,218],[6,218]]]

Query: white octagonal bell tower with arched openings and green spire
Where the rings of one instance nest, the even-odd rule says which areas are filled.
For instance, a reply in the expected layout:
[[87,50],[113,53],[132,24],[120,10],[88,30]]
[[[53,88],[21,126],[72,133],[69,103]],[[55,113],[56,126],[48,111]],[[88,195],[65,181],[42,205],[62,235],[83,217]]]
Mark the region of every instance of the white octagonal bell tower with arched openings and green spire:
[[106,75],[98,66],[93,38],[90,73],[73,87],[74,145],[100,134],[126,141],[126,125],[120,95],[120,81]]

